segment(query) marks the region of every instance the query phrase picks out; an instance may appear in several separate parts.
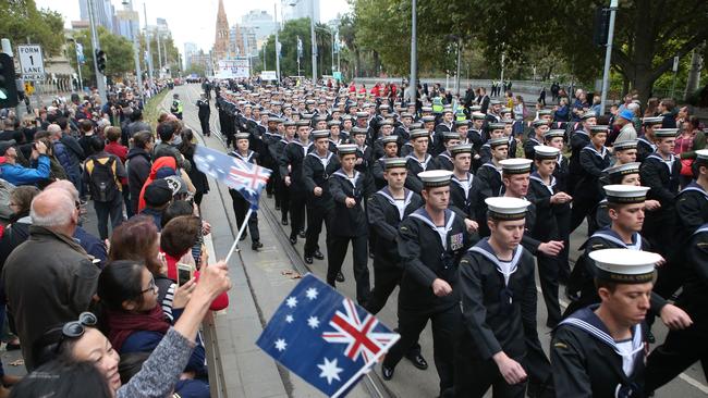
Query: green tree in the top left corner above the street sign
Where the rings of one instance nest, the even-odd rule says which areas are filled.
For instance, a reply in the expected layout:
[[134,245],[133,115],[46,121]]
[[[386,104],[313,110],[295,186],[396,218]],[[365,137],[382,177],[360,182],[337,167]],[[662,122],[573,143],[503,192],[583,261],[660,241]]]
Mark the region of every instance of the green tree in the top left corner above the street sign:
[[64,20],[56,11],[37,10],[34,0],[0,1],[0,37],[13,46],[40,45],[46,58],[59,54],[64,43]]

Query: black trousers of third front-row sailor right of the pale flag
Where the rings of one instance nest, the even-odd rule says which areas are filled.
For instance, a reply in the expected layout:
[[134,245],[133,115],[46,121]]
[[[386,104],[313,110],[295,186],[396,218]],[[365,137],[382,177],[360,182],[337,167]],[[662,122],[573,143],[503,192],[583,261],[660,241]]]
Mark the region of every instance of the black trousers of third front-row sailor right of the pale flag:
[[[337,221],[334,221],[337,222]],[[356,301],[363,306],[370,294],[368,253],[366,251],[366,235],[337,236],[330,231],[327,246],[327,283],[337,286],[337,274],[342,270],[349,242],[352,242],[352,260],[354,262],[354,279],[356,281]]]

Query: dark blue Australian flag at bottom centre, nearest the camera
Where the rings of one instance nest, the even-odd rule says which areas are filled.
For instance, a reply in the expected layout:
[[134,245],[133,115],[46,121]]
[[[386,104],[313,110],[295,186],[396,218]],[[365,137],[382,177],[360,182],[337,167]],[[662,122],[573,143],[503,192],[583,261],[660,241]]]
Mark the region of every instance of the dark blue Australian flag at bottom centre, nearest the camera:
[[307,274],[256,344],[330,397],[342,397],[399,339],[374,315]]

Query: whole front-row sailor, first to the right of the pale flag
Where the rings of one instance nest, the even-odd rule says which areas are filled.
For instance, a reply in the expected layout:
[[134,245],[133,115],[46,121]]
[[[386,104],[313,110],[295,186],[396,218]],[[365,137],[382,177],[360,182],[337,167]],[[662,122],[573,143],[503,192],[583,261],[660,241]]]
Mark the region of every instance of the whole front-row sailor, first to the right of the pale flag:
[[303,160],[313,150],[309,140],[309,121],[297,122],[297,139],[294,139],[283,150],[280,157],[280,176],[290,189],[290,242],[295,245],[297,236],[304,237],[305,224],[305,184],[303,183]]

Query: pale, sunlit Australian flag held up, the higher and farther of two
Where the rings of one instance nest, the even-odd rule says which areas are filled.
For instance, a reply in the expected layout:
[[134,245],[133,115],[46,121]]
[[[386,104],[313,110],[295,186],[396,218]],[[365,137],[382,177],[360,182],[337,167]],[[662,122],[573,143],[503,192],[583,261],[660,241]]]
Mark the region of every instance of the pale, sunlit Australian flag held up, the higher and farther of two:
[[197,145],[194,152],[194,164],[200,172],[237,190],[254,210],[258,209],[260,191],[272,173],[269,169],[244,162],[202,145]]

